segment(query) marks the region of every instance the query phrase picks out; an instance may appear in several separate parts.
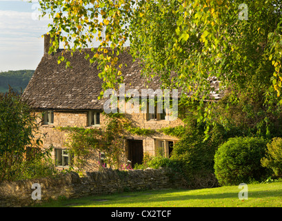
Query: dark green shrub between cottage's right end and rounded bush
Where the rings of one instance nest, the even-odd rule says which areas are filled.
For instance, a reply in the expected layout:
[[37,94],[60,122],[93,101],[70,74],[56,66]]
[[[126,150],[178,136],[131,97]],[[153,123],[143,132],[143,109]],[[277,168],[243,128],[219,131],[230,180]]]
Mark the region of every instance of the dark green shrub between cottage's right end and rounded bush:
[[205,126],[194,123],[185,128],[185,133],[174,144],[172,160],[179,160],[190,188],[207,188],[217,185],[214,177],[214,154],[218,146],[226,140],[223,129],[214,126],[208,138]]

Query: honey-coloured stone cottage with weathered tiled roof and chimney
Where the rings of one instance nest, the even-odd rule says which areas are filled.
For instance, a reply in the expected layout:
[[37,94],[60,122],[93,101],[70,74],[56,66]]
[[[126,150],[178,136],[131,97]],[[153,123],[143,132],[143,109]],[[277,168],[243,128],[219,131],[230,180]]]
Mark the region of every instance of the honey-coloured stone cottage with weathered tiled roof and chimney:
[[[52,158],[57,162],[58,168],[66,169],[71,164],[71,156],[64,144],[68,135],[65,131],[56,130],[57,126],[77,126],[85,128],[100,127],[105,125],[103,112],[104,99],[98,99],[102,88],[103,79],[98,76],[97,64],[90,65],[85,59],[85,52],[91,53],[90,49],[82,52],[70,52],[57,50],[53,55],[48,54],[50,38],[46,36],[44,42],[44,55],[30,82],[23,92],[23,99],[28,102],[34,112],[39,113],[41,122],[40,132],[46,137],[43,140],[43,148],[54,146]],[[58,64],[58,56],[63,56],[70,61],[72,68],[66,68],[66,64]],[[140,75],[140,66],[132,62],[132,57],[124,52],[119,55],[123,64],[125,90],[134,88],[161,88],[161,82],[157,79],[150,84]],[[216,84],[216,82],[214,83]],[[132,113],[130,120],[139,128],[159,129],[184,125],[181,119],[167,120],[161,113],[144,114]],[[177,142],[175,137],[156,133],[150,136],[128,135],[124,144],[125,160],[130,160],[132,166],[141,164],[145,152],[156,155],[157,151],[165,157],[169,157]],[[98,162],[103,161],[103,153],[97,154],[90,162],[89,170],[97,169]]]

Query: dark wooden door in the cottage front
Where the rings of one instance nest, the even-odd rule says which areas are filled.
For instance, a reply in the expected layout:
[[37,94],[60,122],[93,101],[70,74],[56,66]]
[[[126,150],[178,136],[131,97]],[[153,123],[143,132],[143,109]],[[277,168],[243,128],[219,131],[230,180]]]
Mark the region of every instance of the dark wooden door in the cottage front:
[[143,141],[128,140],[128,160],[131,161],[132,168],[134,164],[142,164],[143,162]]

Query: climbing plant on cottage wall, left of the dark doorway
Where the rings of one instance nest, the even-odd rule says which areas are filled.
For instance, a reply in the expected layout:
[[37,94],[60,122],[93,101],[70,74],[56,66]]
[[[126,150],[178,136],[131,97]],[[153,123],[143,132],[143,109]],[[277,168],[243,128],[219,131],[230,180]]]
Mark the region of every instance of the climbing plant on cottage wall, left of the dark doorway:
[[74,154],[74,166],[83,170],[87,160],[93,157],[94,151],[105,153],[105,163],[119,168],[123,153],[123,117],[105,115],[108,124],[100,128],[57,127],[69,131],[66,145]]

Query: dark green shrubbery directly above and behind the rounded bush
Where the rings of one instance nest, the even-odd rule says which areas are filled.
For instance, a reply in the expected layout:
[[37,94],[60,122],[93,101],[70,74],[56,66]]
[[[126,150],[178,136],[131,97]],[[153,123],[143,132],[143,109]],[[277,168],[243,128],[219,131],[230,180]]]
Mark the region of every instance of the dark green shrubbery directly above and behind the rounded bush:
[[[227,91],[216,106],[214,122],[221,124],[232,137],[280,137],[281,107],[277,99],[266,99],[261,88],[250,84],[244,93]],[[268,105],[265,105],[268,103]]]

